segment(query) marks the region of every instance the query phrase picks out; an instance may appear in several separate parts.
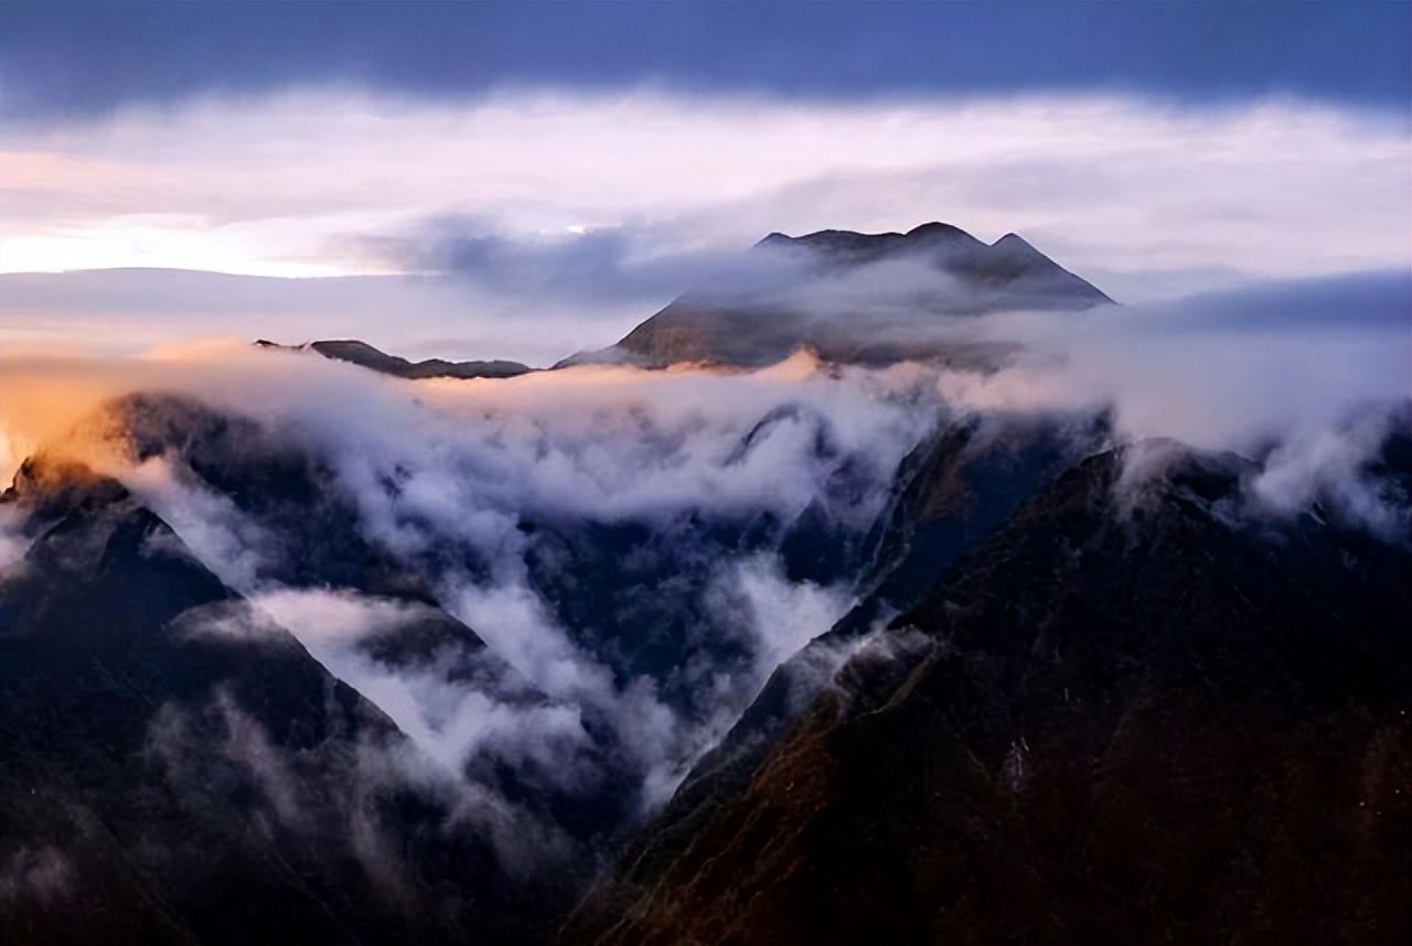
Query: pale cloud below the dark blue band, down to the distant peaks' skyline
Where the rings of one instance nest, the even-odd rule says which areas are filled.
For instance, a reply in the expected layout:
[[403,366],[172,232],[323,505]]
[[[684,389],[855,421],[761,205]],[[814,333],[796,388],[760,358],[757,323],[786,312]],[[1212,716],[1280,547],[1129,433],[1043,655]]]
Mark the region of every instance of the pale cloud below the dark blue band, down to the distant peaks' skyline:
[[[124,110],[3,143],[7,271],[438,274],[357,289],[251,282],[239,306],[215,281],[144,288],[152,308],[241,336],[241,319],[288,313],[298,337],[277,340],[289,342],[367,288],[337,335],[377,336],[405,313],[402,337],[370,340],[409,354],[552,363],[602,347],[774,230],[942,219],[987,241],[1018,232],[1127,302],[1401,267],[1409,253],[1405,121],[1292,99],[535,92],[409,104],[321,90]],[[93,287],[131,295],[140,278],[7,287],[6,339],[72,319],[137,350],[124,339],[158,335],[157,321],[114,312]],[[456,352],[433,350],[448,340]]]

